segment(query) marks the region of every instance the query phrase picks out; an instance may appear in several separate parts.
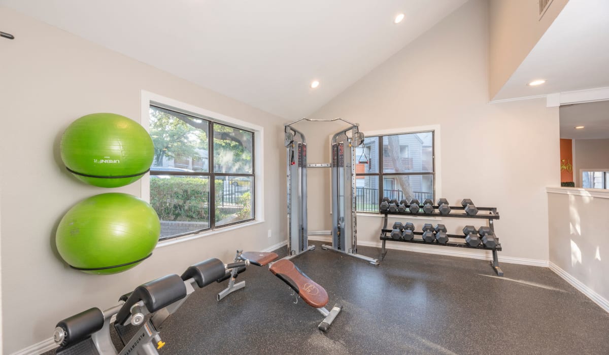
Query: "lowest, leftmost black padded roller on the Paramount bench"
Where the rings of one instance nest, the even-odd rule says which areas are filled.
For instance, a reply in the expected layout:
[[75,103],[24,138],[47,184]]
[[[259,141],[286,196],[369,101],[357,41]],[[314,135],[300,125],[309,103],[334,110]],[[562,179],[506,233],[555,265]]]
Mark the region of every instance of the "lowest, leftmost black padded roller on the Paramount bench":
[[65,332],[60,346],[68,346],[90,336],[104,326],[104,313],[99,308],[90,308],[57,323]]

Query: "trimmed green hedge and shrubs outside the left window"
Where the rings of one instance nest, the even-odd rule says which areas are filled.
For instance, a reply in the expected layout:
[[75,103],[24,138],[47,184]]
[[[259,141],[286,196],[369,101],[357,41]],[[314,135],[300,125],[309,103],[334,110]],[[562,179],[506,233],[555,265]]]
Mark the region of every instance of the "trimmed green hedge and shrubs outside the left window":
[[[216,203],[222,203],[224,181],[216,180]],[[250,219],[252,211],[250,192],[238,197],[236,211],[239,220]],[[150,205],[161,220],[209,222],[209,179],[203,178],[151,178]],[[235,213],[235,206],[216,208],[216,221]]]

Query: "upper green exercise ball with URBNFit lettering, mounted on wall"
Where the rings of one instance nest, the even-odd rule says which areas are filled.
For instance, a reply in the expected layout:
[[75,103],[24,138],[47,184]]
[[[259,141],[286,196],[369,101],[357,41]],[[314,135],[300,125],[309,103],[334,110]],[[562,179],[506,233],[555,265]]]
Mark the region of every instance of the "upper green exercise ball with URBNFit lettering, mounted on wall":
[[152,138],[125,116],[93,113],[72,122],[61,142],[63,163],[77,178],[118,188],[141,178],[154,158]]

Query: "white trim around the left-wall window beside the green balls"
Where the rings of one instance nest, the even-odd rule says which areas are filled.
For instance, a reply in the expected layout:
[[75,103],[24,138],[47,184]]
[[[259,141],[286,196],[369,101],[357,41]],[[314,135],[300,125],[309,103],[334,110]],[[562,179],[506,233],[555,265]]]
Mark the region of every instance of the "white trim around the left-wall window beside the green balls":
[[[169,97],[164,97],[159,94],[150,93],[149,91],[141,91],[141,115],[140,123],[142,127],[150,132],[150,105],[161,105],[163,107],[171,107],[178,112],[193,113],[204,117],[209,117],[219,124],[227,124],[235,128],[242,128],[250,132],[254,132],[254,220],[244,223],[238,223],[229,225],[227,227],[217,227],[214,230],[205,230],[200,233],[188,234],[185,236],[174,237],[160,241],[157,244],[157,248],[166,247],[180,242],[189,241],[191,239],[198,239],[201,237],[211,236],[218,233],[225,233],[227,231],[236,230],[239,228],[249,227],[258,223],[264,222],[264,128],[260,125],[252,124],[241,119],[232,118],[225,114],[205,110],[195,105],[186,104]],[[150,173],[146,173],[141,178],[141,199],[146,202],[150,202]]]

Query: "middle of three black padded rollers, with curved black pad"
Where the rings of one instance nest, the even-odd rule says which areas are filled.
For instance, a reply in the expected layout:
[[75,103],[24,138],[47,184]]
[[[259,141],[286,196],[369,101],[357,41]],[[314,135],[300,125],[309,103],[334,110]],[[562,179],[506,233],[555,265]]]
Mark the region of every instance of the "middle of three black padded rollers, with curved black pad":
[[138,286],[116,314],[116,323],[123,324],[131,314],[133,304],[144,301],[148,312],[156,312],[186,297],[186,285],[178,275],[167,275]]

